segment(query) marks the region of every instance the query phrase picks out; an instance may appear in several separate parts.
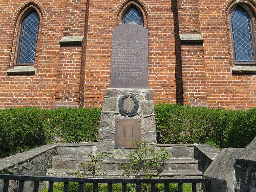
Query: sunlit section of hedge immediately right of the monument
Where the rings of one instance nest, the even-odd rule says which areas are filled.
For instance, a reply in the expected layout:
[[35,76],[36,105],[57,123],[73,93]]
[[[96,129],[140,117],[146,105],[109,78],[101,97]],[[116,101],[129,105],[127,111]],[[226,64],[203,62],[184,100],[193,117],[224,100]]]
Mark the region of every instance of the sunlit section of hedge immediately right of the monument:
[[200,143],[210,136],[206,108],[157,104],[155,113],[160,143]]

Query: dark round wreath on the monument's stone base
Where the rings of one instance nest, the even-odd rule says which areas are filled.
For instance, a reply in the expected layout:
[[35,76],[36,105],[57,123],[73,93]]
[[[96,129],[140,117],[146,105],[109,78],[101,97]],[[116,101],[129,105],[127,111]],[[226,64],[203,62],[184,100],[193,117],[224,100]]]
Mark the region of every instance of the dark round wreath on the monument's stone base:
[[134,117],[139,109],[139,100],[132,94],[125,94],[120,97],[118,106],[121,115]]

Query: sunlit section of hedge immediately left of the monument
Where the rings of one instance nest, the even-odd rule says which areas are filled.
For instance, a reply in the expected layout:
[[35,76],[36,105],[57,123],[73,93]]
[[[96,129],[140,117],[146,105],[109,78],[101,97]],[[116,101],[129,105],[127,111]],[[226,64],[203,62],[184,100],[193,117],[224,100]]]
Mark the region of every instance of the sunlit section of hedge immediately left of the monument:
[[50,122],[50,130],[54,127],[62,142],[97,141],[100,110],[57,109],[51,111],[51,117],[54,121]]

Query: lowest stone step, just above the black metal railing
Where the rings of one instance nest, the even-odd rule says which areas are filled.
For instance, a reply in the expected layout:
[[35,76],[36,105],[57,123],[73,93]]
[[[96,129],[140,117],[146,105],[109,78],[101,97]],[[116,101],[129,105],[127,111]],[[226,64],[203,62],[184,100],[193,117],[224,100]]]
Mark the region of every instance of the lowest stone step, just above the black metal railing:
[[[47,170],[47,176],[54,177],[77,177],[74,174],[76,169],[59,169],[51,168]],[[143,174],[140,174],[143,175]],[[109,170],[108,172],[99,172],[96,177],[103,178],[126,178],[123,174],[123,170]],[[202,173],[199,170],[164,170],[161,178],[173,178],[173,179],[184,179],[184,178],[201,178]]]

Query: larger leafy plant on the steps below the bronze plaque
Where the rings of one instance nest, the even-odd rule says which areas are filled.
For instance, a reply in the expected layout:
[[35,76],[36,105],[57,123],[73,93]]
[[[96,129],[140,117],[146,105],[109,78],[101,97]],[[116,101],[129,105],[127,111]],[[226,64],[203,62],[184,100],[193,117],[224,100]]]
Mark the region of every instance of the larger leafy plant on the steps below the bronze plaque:
[[[161,177],[163,172],[164,161],[170,157],[164,148],[154,150],[146,145],[144,141],[132,141],[134,145],[133,151],[127,156],[130,163],[121,166],[124,175],[127,177],[152,179],[153,176]],[[143,191],[150,191],[150,184],[143,184]]]

